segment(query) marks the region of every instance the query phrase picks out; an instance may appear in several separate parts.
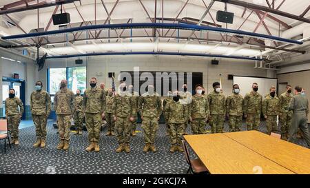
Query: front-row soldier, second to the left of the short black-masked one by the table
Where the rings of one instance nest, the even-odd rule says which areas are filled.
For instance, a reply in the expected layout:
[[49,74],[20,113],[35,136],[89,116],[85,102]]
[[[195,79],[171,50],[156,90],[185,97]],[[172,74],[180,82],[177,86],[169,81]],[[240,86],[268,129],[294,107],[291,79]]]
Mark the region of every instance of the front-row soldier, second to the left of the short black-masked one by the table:
[[118,148],[116,152],[130,152],[130,132],[136,114],[136,103],[132,94],[126,91],[125,83],[121,83],[119,92],[114,97],[112,109],[115,121]]

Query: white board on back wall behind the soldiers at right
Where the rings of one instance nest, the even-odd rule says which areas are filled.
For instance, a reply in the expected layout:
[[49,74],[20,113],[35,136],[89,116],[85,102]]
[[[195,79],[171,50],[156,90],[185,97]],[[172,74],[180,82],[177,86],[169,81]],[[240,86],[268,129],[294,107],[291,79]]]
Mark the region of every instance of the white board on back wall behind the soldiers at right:
[[245,94],[251,92],[252,84],[256,82],[258,84],[258,93],[262,95],[262,98],[264,98],[266,94],[269,94],[269,89],[271,85],[277,88],[277,81],[278,79],[269,79],[269,78],[260,78],[260,77],[251,77],[251,76],[234,76],[233,77],[233,83],[239,85],[240,94],[242,96],[245,96]]

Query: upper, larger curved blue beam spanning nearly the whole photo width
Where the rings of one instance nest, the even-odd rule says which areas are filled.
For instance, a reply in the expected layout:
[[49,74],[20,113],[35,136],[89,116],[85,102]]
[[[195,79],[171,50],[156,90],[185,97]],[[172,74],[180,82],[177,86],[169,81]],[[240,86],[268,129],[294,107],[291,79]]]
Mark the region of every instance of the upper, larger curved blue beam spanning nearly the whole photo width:
[[67,32],[78,32],[81,30],[101,30],[101,29],[130,29],[130,28],[164,28],[164,29],[180,29],[180,30],[206,30],[209,32],[223,32],[223,33],[231,33],[231,34],[238,34],[238,35],[245,35],[263,39],[271,39],[275,41],[282,41],[285,43],[294,43],[294,44],[302,44],[300,41],[285,39],[278,36],[270,36],[267,34],[259,34],[254,32],[246,32],[242,30],[231,30],[225,28],[215,28],[209,26],[202,26],[202,25],[192,25],[192,24],[179,24],[179,23],[118,23],[118,24],[107,24],[107,25],[86,25],[77,28],[67,28],[63,30],[52,30],[47,32],[36,32],[36,33],[29,33],[29,34],[16,34],[10,36],[2,36],[1,38],[4,40],[8,39],[21,39],[21,38],[29,38],[29,37],[36,37],[36,36],[46,36],[52,34],[62,34]]

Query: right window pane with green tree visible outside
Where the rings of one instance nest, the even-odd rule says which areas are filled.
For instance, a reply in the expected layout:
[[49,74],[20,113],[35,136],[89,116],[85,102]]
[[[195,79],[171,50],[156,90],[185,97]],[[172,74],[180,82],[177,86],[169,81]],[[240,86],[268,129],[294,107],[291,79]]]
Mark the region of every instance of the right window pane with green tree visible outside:
[[81,90],[81,93],[86,89],[86,67],[68,67],[68,88],[76,93],[76,90]]

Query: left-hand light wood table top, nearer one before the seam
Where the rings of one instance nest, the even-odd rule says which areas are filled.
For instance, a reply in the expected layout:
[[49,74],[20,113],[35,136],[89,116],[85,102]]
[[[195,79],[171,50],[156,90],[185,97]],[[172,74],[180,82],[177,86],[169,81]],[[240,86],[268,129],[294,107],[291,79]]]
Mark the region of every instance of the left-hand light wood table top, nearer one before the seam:
[[224,134],[184,138],[211,174],[294,174]]

